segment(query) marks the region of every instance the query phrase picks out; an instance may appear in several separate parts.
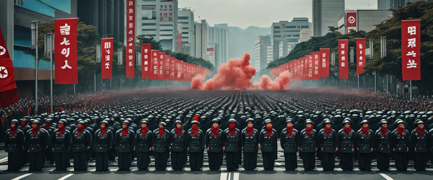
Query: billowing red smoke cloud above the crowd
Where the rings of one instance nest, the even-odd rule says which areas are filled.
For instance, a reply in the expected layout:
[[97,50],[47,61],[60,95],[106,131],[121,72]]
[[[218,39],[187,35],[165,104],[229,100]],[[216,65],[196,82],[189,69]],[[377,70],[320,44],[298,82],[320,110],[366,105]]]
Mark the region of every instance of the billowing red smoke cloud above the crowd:
[[260,82],[251,82],[257,70],[249,64],[249,59],[250,55],[248,53],[245,53],[243,57],[230,59],[227,63],[218,67],[219,72],[206,82],[204,82],[205,76],[194,76],[191,81],[191,88],[200,90],[284,90],[287,88],[292,77],[292,74],[288,71],[281,73],[274,81],[269,76],[263,75]]

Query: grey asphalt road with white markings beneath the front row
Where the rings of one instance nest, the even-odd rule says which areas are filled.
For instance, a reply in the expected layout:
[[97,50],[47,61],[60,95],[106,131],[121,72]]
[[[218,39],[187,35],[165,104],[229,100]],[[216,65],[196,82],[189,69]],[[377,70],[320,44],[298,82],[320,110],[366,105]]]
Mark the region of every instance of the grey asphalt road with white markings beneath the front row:
[[[6,159],[5,159],[6,158]],[[0,180],[87,180],[100,179],[100,180],[125,180],[136,179],[139,175],[140,179],[152,180],[166,180],[166,179],[188,179],[188,180],[266,180],[266,179],[296,179],[296,180],[352,180],[352,179],[370,179],[370,180],[408,180],[408,179],[432,179],[433,168],[427,168],[427,171],[415,171],[413,161],[409,162],[409,171],[401,172],[396,171],[394,161],[391,161],[391,171],[381,172],[376,168],[376,163],[373,162],[371,172],[359,171],[358,164],[354,164],[354,170],[343,172],[339,168],[339,160],[336,160],[336,171],[323,172],[323,166],[320,161],[316,161],[317,171],[302,171],[302,160],[298,159],[298,171],[284,171],[284,154],[282,149],[278,149],[278,159],[275,161],[275,171],[263,171],[262,156],[259,151],[258,155],[258,168],[256,171],[242,171],[242,165],[239,166],[239,171],[225,172],[226,166],[223,161],[222,171],[210,171],[209,164],[207,163],[207,154],[204,153],[204,167],[203,171],[189,171],[189,164],[184,165],[184,171],[171,171],[170,159],[168,160],[168,171],[154,171],[155,163],[149,166],[150,171],[137,171],[136,162],[132,162],[131,171],[116,171],[116,162],[110,164],[109,172],[95,172],[94,161],[89,163],[89,169],[85,172],[74,172],[73,167],[69,167],[68,171],[53,171],[54,165],[45,165],[42,171],[27,171],[28,166],[24,166],[20,171],[6,171],[7,169],[7,153],[0,151]],[[71,159],[71,165],[73,159]],[[367,176],[362,176],[367,175]]]

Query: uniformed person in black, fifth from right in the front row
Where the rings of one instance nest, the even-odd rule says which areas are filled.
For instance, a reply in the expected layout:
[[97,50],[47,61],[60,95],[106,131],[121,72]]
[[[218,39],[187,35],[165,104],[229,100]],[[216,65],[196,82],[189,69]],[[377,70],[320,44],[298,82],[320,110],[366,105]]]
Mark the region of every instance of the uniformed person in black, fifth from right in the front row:
[[340,167],[343,171],[353,170],[353,151],[355,150],[356,133],[350,127],[351,123],[350,118],[344,119],[342,122],[343,129],[340,129],[337,133],[338,142],[340,143],[338,146]]

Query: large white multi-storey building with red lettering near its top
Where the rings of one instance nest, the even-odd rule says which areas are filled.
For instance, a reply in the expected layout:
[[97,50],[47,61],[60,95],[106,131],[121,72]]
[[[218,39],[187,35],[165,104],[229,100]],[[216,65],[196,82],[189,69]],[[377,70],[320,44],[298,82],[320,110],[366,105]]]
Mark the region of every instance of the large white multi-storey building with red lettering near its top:
[[[164,50],[177,51],[178,0],[145,0],[141,6],[141,35],[161,41]],[[139,24],[137,25],[139,26]],[[137,33],[139,34],[139,33]]]

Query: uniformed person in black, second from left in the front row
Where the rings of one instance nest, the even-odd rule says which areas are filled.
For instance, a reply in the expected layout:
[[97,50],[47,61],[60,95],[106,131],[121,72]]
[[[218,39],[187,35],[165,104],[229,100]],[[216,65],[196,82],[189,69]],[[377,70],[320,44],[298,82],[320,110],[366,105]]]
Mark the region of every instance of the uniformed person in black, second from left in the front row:
[[48,148],[48,134],[39,128],[41,121],[33,120],[32,129],[27,131],[24,146],[29,150],[29,171],[40,171],[44,167],[43,151]]

